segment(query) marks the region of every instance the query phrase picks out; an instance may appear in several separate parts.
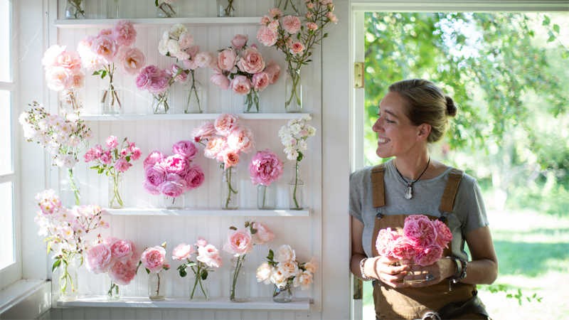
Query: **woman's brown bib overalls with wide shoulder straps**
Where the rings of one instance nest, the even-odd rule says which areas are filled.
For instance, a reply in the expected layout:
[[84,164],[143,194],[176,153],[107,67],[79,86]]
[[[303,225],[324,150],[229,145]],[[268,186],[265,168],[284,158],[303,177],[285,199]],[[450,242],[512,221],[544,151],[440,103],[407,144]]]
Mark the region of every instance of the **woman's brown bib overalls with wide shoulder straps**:
[[[403,235],[403,225],[407,215],[383,215],[383,207],[385,206],[385,189],[383,183],[383,164],[373,167],[371,170],[371,183],[373,188],[373,208],[378,210],[376,215],[376,223],[373,227],[373,237],[371,250],[373,257],[378,256],[376,249],[376,239],[379,230],[391,228],[398,234]],[[452,169],[449,174],[445,191],[442,194],[440,211],[445,224],[448,225],[446,216],[452,214],[452,206],[454,197],[457,194],[457,188],[462,178],[462,171]],[[439,218],[427,215],[431,220]],[[443,250],[442,256],[452,255],[451,244]],[[381,281],[377,282],[373,287],[373,301],[376,306],[377,319],[422,319],[427,312],[435,312],[451,302],[465,302],[477,294],[477,288],[474,284],[464,284],[458,282],[452,284],[452,291],[449,291],[449,282],[442,279],[437,284],[427,287],[406,287],[393,289],[387,285],[382,285]],[[484,305],[482,305],[484,306]],[[430,318],[429,318],[430,319]],[[452,319],[488,319],[487,316],[481,314],[468,313],[462,316],[456,316]]]

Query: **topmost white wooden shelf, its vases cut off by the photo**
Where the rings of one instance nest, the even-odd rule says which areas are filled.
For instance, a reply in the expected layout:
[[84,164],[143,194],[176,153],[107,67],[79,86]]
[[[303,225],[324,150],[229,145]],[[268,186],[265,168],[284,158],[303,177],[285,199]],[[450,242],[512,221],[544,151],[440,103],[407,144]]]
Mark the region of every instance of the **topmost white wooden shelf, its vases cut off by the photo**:
[[238,26],[258,25],[261,17],[201,17],[201,18],[125,18],[125,19],[70,19],[55,20],[57,28],[106,28],[112,26],[117,20],[128,20],[135,27],[174,26],[184,23],[191,26]]

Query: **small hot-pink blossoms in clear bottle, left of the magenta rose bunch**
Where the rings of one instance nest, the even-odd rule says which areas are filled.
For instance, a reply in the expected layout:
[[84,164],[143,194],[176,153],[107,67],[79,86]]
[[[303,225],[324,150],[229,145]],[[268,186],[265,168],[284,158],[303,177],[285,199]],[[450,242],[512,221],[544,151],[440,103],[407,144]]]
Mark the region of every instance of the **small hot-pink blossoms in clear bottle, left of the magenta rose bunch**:
[[[122,140],[119,148],[117,137],[110,136],[105,141],[109,149],[103,149],[100,144],[97,144],[95,148],[89,149],[83,156],[85,162],[97,162],[98,165],[92,166],[90,169],[97,170],[99,174],[105,172],[107,176],[112,178],[112,189],[109,188],[109,208],[113,209],[120,209],[123,206],[119,194],[119,186],[122,185],[121,174],[132,166],[131,160],[138,160],[142,156],[142,151],[134,145],[134,142],[128,142],[127,139]],[[127,146],[124,146],[125,142]]]

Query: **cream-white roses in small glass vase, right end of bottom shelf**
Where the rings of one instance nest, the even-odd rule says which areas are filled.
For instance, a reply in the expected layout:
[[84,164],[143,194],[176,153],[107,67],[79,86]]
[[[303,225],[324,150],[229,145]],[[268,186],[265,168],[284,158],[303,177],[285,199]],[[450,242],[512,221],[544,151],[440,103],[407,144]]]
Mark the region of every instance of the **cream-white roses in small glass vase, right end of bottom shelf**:
[[[198,256],[196,257],[197,262],[191,261],[191,254],[196,253],[196,248],[198,250]],[[186,243],[181,243],[177,247],[172,250],[172,259],[175,260],[184,260],[188,263],[184,263],[178,267],[180,272],[180,277],[186,277],[188,272],[186,271],[188,267],[191,268],[194,276],[196,277],[195,282],[193,283],[193,289],[191,290],[190,299],[194,300],[194,294],[196,294],[196,300],[199,299],[206,300],[208,299],[208,292],[207,288],[203,288],[203,284],[201,280],[208,279],[208,272],[213,272],[217,270],[218,267],[223,266],[223,260],[219,255],[219,251],[214,245],[208,243],[208,240],[198,237],[198,241],[192,245],[186,245]],[[215,268],[215,270],[209,270],[209,268]],[[200,285],[198,292],[196,292],[196,288]]]

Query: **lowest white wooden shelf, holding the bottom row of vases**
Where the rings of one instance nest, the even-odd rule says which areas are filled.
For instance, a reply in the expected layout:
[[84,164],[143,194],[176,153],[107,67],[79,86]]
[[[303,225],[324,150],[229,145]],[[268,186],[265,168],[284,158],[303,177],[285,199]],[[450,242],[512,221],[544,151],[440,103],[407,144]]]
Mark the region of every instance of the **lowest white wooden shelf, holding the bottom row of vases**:
[[271,298],[249,298],[247,302],[230,302],[229,298],[215,297],[207,302],[191,302],[189,297],[168,297],[152,301],[148,297],[123,297],[121,301],[107,301],[105,296],[83,296],[73,301],[58,300],[58,307],[69,308],[163,308],[163,309],[255,309],[255,310],[308,310],[309,298],[292,299],[285,304]]

